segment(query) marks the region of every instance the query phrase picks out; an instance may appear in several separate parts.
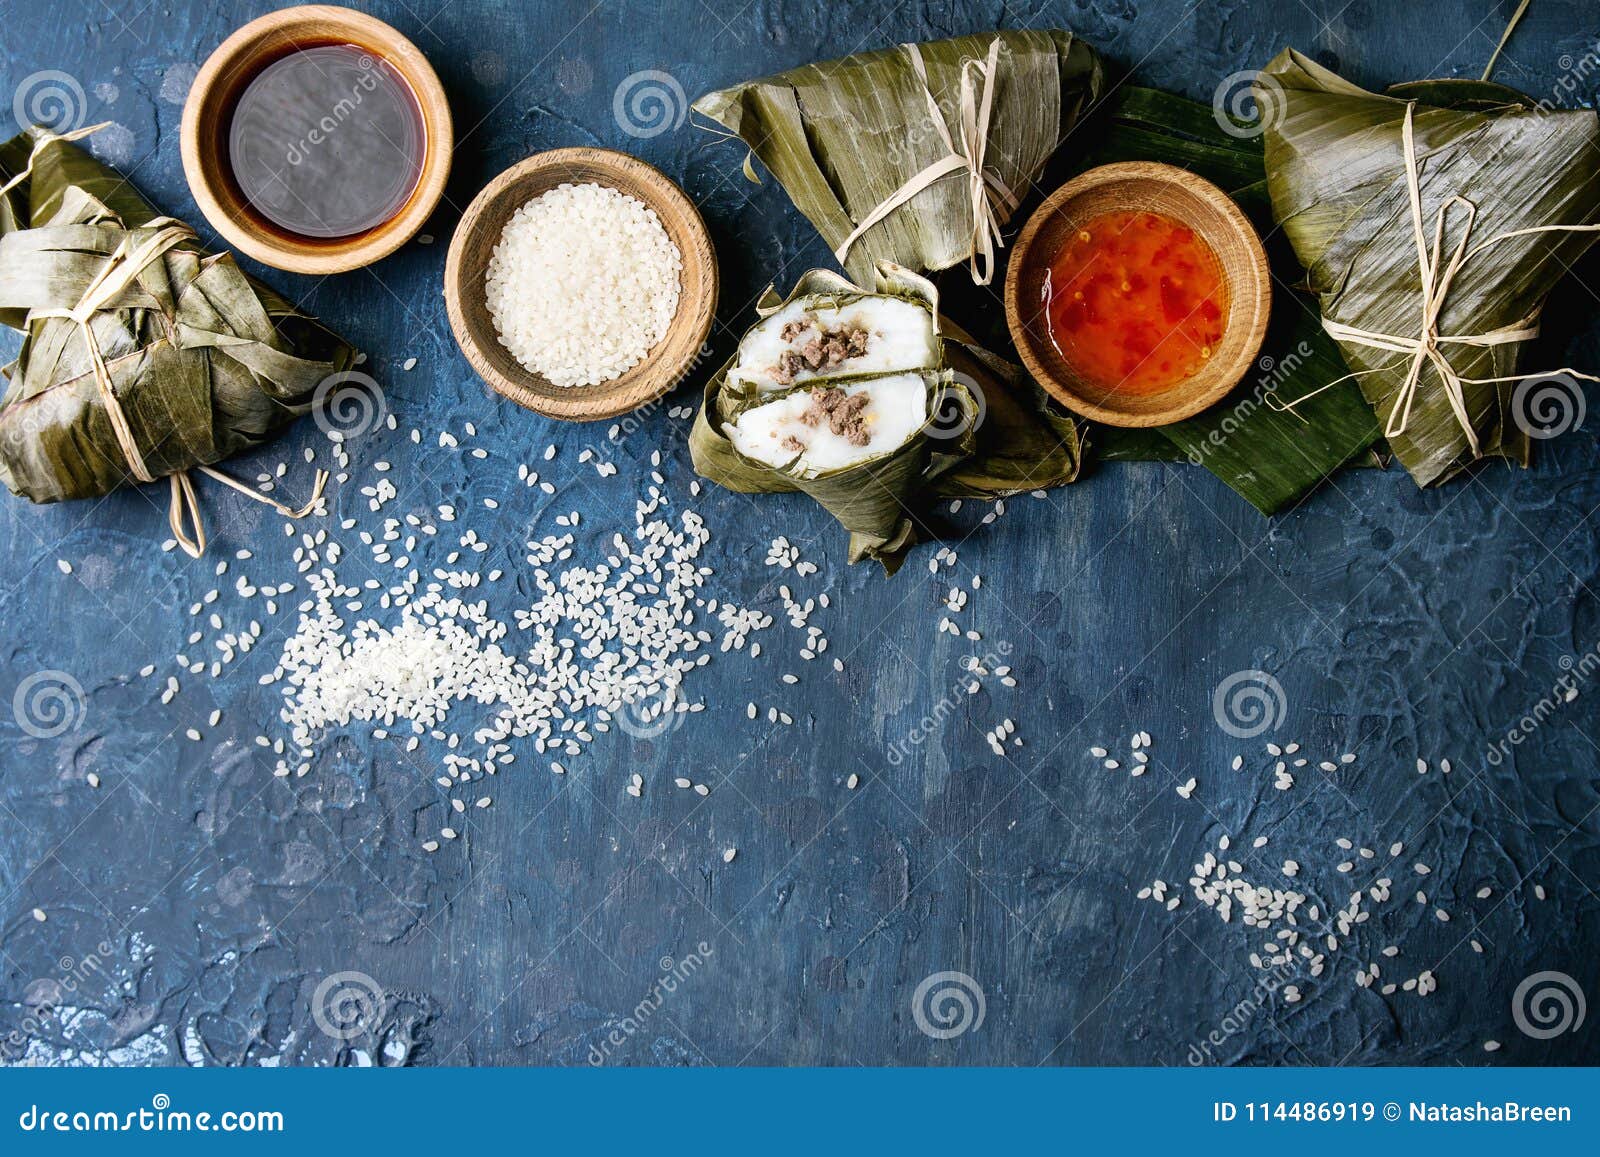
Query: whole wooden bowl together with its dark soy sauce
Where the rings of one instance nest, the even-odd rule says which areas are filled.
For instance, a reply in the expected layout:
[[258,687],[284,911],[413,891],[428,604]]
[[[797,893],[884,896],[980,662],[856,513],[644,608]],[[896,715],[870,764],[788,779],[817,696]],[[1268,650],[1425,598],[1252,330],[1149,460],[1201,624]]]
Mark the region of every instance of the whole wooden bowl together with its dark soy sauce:
[[245,24],[184,104],[200,211],[234,248],[294,274],[358,269],[416,235],[453,142],[445,90],[416,45],[328,5]]

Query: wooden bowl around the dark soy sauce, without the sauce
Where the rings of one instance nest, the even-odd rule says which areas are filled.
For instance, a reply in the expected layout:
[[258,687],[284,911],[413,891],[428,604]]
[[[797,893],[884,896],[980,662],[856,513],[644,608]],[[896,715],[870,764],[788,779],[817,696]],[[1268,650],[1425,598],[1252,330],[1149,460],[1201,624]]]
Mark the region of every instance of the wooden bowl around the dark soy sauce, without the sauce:
[[[296,48],[328,43],[355,45],[406,80],[422,114],[424,154],[416,189],[395,216],[363,234],[322,240],[286,234],[250,206],[229,166],[227,130],[240,93],[261,69]],[[416,45],[382,21],[330,5],[283,8],[245,24],[211,53],[184,102],[184,176],[200,211],[229,245],[293,274],[358,269],[411,240],[445,190],[453,146],[445,90]]]

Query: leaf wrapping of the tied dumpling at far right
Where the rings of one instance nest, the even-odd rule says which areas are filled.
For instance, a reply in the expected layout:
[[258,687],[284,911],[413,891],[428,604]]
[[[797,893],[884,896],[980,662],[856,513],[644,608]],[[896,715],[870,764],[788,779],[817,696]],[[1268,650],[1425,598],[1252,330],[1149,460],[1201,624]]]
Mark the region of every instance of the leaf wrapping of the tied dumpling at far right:
[[[1318,294],[1322,315],[1370,333],[1418,338],[1421,269],[1406,186],[1403,123],[1413,109],[1422,229],[1432,245],[1453,197],[1475,206],[1470,245],[1536,226],[1600,221],[1600,118],[1549,110],[1501,86],[1424,82],[1395,96],[1368,93],[1293,50],[1256,82],[1267,117],[1272,208]],[[1496,104],[1494,101],[1501,101]],[[1448,102],[1456,107],[1445,107]],[[1450,211],[1442,261],[1466,237],[1467,211]],[[1594,234],[1514,237],[1469,256],[1438,318],[1440,334],[1485,334],[1536,315]],[[1458,422],[1443,379],[1424,365],[1403,432],[1392,424],[1411,357],[1341,341],[1344,360],[1386,422],[1395,458],[1418,485],[1443,482],[1474,458],[1526,464],[1528,434],[1510,413],[1514,381],[1466,382],[1478,450]],[[1510,378],[1522,342],[1445,344],[1461,378]],[[1301,411],[1310,424],[1315,419]]]

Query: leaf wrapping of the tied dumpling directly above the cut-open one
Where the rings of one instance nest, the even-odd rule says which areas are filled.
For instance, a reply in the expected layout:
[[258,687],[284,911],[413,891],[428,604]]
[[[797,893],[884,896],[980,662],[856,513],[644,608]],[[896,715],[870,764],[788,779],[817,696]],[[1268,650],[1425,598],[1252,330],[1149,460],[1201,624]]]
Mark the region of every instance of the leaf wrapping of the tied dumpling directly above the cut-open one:
[[[958,141],[963,64],[986,59],[995,40],[1002,51],[984,166],[1021,198],[1099,94],[1099,56],[1059,29],[922,43],[928,88],[909,53],[896,46],[709,93],[694,110],[742,138],[829,248],[838,250],[856,222],[949,155],[926,94],[933,93]],[[1003,224],[1008,213],[998,216]],[[880,261],[949,269],[973,256],[973,232],[968,184],[949,176],[862,234],[845,269],[861,285]]]

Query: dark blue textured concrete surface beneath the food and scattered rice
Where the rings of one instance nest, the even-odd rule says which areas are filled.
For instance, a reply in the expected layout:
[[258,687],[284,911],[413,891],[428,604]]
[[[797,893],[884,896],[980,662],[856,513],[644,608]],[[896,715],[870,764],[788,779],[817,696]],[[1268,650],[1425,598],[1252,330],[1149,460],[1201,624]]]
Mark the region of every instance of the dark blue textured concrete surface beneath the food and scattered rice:
[[[454,501],[523,568],[528,531],[558,510],[586,514],[584,542],[630,525],[635,480],[654,448],[686,498],[688,424],[650,416],[598,483],[576,451],[602,429],[560,426],[490,397],[451,341],[440,298],[445,242],[459,208],[501,168],[557,146],[637,152],[678,178],[715,234],[725,352],[768,282],[827,254],[768,182],[738,174],[739,154],[691,126],[650,139],[613,117],[618,85],[670,74],[693,98],[805,61],[898,40],[995,26],[1072,27],[1141,82],[1210,99],[1216,80],[1259,67],[1285,45],[1379,86],[1477,75],[1510,0],[1056,0],[1053,3],[661,3],[358,5],[410,35],[438,69],[456,115],[446,203],[429,230],[378,267],[330,278],[262,272],[370,350],[402,435],[354,446],[357,477],[334,493],[358,514],[357,485],[397,464],[398,509]],[[178,154],[181,102],[205,56],[267,5],[69,0],[6,6],[0,91],[56,69],[77,78],[96,139],[160,206],[194,221]],[[1558,88],[1594,46],[1600,19],[1578,0],[1536,0],[1498,74],[1558,104],[1594,98],[1595,74]],[[1070,147],[1070,144],[1069,144]],[[1563,290],[1584,306],[1594,291]],[[1600,365],[1590,328],[1552,363]],[[406,358],[416,368],[402,370]],[[674,403],[694,400],[698,382]],[[403,438],[410,426],[478,426],[488,461]],[[718,659],[690,685],[709,707],[654,739],[613,731],[565,781],[530,757],[494,783],[438,855],[418,842],[443,823],[432,762],[363,731],[330,738],[314,771],[270,778],[251,738],[277,695],[256,685],[270,639],[229,680],[186,679],[170,707],[158,680],[190,631],[187,605],[218,581],[211,560],[251,546],[256,581],[288,576],[280,520],[206,488],[214,555],[162,554],[165,493],[126,491],[61,507],[0,502],[0,698],[34,672],[70,674],[83,719],[37,739],[0,712],[0,1031],[6,1059],[162,1064],[581,1064],[616,1034],[629,1064],[1186,1064],[1211,1034],[1224,1063],[1594,1063],[1594,1016],[1549,1040],[1522,1032],[1512,994],[1531,973],[1566,973],[1600,997],[1600,759],[1597,688],[1533,728],[1499,767],[1490,744],[1550,695],[1566,661],[1600,643],[1595,595],[1600,454],[1595,422],[1539,454],[1534,470],[1480,470],[1421,493],[1398,472],[1336,478],[1299,509],[1262,520],[1189,466],[1102,467],[1048,501],[1019,499],[994,525],[960,515],[962,581],[984,578],[963,613],[984,643],[1014,647],[1019,687],[986,685],[910,759],[886,751],[955,687],[970,645],[936,635],[946,571],[930,549],[894,581],[843,565],[834,523],[798,498],[698,499],[715,542],[717,589],[776,608],[766,542],[784,530],[822,570],[786,576],[829,591],[818,613],[843,674],[800,664],[776,629],[770,655]],[[514,464],[546,442],[565,448],[534,501]],[[323,446],[307,422],[237,464],[245,477]],[[323,450],[325,453],[325,450]],[[291,474],[286,483],[294,490]],[[483,496],[502,496],[490,514]],[[554,509],[552,502],[558,502]],[[352,552],[354,554],[354,552]],[[62,574],[58,558],[74,563]],[[352,574],[358,568],[352,568]],[[224,595],[224,602],[227,595]],[[286,602],[293,603],[294,597]],[[509,611],[510,603],[506,605]],[[253,611],[259,613],[259,611]],[[285,610],[269,637],[293,629]],[[787,631],[787,627],[784,627]],[[805,682],[781,687],[798,669]],[[1355,751],[1331,779],[1312,771],[1272,787],[1261,741],[1213,720],[1216,685],[1240,669],[1282,683],[1278,743],[1315,759]],[[1565,696],[1563,696],[1565,698]],[[749,699],[778,703],[792,728],[749,723]],[[214,707],[222,723],[206,728]],[[992,757],[984,731],[1018,722],[1027,746]],[[206,730],[189,743],[187,727]],[[1142,779],[1085,751],[1142,728],[1155,739]],[[1246,771],[1230,771],[1248,752]],[[1418,775],[1416,759],[1432,765]],[[1454,763],[1450,776],[1437,763]],[[646,778],[643,800],[624,794]],[[88,775],[101,787],[90,787]],[[701,799],[674,775],[712,784]],[[850,792],[845,778],[862,784]],[[1192,800],[1174,784],[1198,778]],[[1246,875],[1296,885],[1325,911],[1354,879],[1338,837],[1378,850],[1395,880],[1349,947],[1304,999],[1253,994],[1248,954],[1262,936],[1186,895],[1176,912],[1136,898],[1154,877],[1187,893],[1190,864],[1232,835]],[[1267,848],[1250,847],[1256,835]],[[1392,842],[1406,843],[1387,866]],[[723,864],[722,850],[738,847]],[[1413,859],[1432,874],[1413,874]],[[1539,899],[1534,887],[1544,890]],[[1424,887],[1432,903],[1411,899]],[[1491,887],[1493,895],[1477,899]],[[1451,912],[1443,923],[1435,906]],[[30,911],[46,914],[38,922]],[[1474,952],[1469,939],[1483,952]],[[702,967],[659,1011],[662,957]],[[1398,944],[1395,959],[1378,955]],[[1438,991],[1381,995],[1382,981],[1430,968]],[[981,986],[981,1026],[936,1040],[915,1024],[914,991],[942,970]],[[360,971],[381,1015],[350,1042],[318,1031],[317,986]],[[1381,981],[1381,983],[1382,983]],[[1592,1013],[1594,1010],[1590,1010]],[[1499,1040],[1494,1053],[1485,1040]]]

